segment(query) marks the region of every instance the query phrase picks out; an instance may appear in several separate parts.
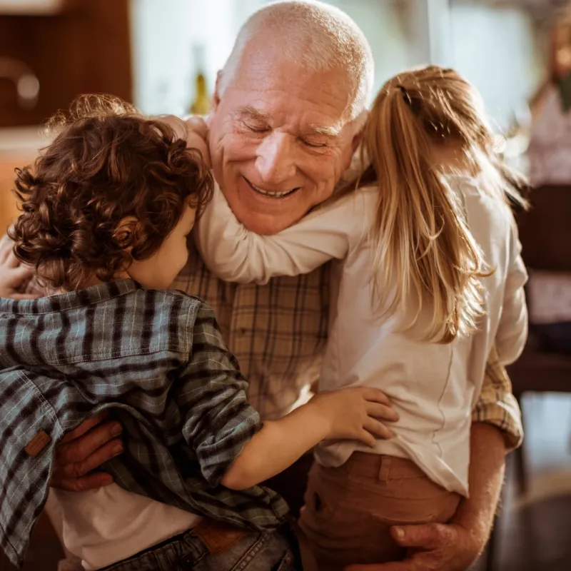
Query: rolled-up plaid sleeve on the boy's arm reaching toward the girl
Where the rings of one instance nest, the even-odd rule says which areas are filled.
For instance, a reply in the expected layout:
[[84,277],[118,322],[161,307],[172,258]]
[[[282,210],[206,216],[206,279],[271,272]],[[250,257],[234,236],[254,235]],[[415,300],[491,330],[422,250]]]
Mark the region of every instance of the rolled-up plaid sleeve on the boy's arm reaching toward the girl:
[[216,486],[262,423],[246,399],[248,382],[222,340],[213,310],[202,303],[193,327],[191,358],[179,376],[183,436],[201,472]]

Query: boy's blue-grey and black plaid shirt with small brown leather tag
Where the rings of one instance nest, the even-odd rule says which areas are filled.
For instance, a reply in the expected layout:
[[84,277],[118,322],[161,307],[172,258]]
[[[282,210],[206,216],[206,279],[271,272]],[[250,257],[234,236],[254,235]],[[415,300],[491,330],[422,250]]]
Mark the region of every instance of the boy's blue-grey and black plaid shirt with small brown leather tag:
[[288,507],[275,492],[219,485],[261,428],[247,386],[211,308],[184,293],[124,280],[1,299],[0,546],[22,564],[56,444],[106,408],[126,451],[104,468],[126,490],[251,530],[278,527]]

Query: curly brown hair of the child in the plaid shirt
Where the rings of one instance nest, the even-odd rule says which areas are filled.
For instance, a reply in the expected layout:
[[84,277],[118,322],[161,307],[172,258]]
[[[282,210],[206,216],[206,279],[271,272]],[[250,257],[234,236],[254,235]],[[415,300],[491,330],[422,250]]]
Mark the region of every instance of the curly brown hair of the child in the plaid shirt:
[[[10,236],[16,257],[51,287],[110,281],[155,253],[187,204],[200,213],[211,199],[200,151],[118,98],[81,96],[48,124],[59,131],[54,142],[33,167],[16,169],[22,212]],[[126,237],[127,216],[138,224]]]

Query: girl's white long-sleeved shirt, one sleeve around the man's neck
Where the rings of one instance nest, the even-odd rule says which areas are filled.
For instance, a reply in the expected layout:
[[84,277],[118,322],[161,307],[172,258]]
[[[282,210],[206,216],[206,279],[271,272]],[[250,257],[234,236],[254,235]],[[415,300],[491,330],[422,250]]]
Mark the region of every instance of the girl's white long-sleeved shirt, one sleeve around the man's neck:
[[374,450],[349,441],[321,443],[317,460],[338,466],[354,450],[410,458],[447,490],[468,495],[471,413],[492,346],[507,364],[525,345],[527,273],[508,206],[480,188],[480,178],[455,177],[451,184],[495,272],[482,278],[486,314],[479,330],[447,345],[400,333],[396,324],[402,323],[402,315],[386,319],[373,309],[367,236],[380,192],[376,186],[340,198],[273,236],[259,236],[242,226],[216,187],[195,236],[206,265],[225,281],[267,283],[273,276],[308,273],[338,260],[320,390],[379,388],[400,420],[391,424],[395,438],[378,440]]

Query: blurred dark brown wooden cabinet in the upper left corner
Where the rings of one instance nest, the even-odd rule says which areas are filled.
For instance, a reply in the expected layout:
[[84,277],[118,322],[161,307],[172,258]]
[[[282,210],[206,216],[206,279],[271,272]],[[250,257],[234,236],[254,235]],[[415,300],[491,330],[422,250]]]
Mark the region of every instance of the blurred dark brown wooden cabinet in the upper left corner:
[[[62,0],[47,15],[0,9],[0,127],[37,125],[81,94],[131,101],[128,6],[128,0]],[[33,105],[23,105],[16,91],[21,69],[39,86]]]

